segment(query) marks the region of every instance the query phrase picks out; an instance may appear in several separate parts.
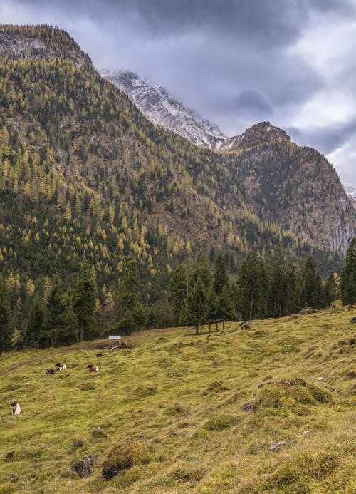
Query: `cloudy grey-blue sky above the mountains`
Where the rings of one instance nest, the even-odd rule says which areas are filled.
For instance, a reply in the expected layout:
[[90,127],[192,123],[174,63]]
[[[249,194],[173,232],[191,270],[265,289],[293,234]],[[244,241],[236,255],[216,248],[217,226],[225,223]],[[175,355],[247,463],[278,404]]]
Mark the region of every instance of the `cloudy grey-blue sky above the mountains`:
[[66,29],[236,135],[261,120],[356,188],[356,0],[0,0],[0,21]]

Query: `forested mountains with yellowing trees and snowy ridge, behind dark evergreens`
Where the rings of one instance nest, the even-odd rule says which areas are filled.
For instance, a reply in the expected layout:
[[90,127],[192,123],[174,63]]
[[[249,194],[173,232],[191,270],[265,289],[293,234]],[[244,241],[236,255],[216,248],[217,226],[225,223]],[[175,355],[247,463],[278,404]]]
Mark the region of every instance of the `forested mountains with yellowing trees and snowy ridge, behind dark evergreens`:
[[226,138],[164,89],[105,77],[60,29],[0,27],[0,261],[20,299],[31,283],[69,284],[83,259],[101,302],[135,259],[148,305],[204,252],[231,275],[278,245],[340,268],[355,209],[317,150],[268,122]]

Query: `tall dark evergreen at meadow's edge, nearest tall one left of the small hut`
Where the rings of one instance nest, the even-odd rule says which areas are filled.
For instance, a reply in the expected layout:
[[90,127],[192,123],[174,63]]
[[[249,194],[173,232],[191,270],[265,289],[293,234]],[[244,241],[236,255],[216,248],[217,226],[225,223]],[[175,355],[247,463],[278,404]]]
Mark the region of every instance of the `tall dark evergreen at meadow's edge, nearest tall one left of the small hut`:
[[95,335],[95,292],[96,283],[88,262],[83,262],[77,284],[73,289],[73,313],[78,329],[79,341]]

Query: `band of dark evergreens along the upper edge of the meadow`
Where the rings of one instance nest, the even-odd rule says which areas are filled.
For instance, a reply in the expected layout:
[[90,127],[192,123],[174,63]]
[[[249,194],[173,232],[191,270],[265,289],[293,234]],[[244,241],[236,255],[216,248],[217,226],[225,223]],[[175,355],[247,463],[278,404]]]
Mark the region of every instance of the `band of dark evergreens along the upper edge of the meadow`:
[[[229,278],[226,259],[218,254],[214,264],[202,254],[197,263],[180,264],[172,272],[167,297],[155,304],[142,299],[139,269],[127,259],[114,292],[103,287],[99,297],[95,269],[81,264],[75,284],[64,289],[61,280],[46,279],[43,290],[11,304],[16,279],[0,277],[0,352],[11,348],[47,348],[131,331],[216,321],[246,321],[283,317],[304,307],[323,309],[335,299],[352,307],[356,303],[356,238],[347,250],[340,273],[322,279],[310,255],[297,266],[287,262],[278,246],[265,258],[249,253],[242,259],[234,279]],[[11,289],[9,287],[11,286]],[[25,311],[19,325],[17,312]]]

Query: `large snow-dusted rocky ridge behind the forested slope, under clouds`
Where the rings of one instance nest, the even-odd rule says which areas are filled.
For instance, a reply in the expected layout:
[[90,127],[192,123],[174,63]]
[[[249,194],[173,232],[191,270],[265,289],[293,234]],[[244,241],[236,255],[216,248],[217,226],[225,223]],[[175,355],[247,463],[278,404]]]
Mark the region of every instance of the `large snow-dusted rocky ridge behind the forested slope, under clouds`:
[[219,149],[226,136],[221,130],[185,108],[169,93],[154,83],[127,70],[100,70],[101,76],[124,91],[139,110],[156,125],[182,135],[205,148]]

